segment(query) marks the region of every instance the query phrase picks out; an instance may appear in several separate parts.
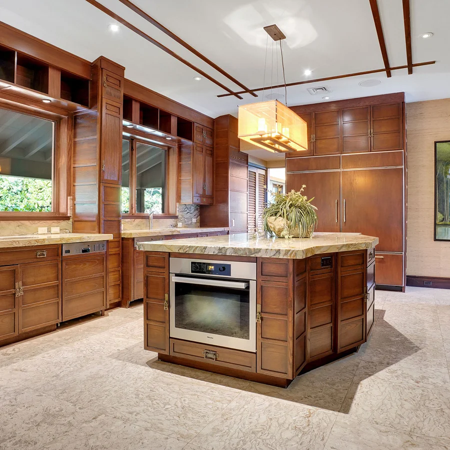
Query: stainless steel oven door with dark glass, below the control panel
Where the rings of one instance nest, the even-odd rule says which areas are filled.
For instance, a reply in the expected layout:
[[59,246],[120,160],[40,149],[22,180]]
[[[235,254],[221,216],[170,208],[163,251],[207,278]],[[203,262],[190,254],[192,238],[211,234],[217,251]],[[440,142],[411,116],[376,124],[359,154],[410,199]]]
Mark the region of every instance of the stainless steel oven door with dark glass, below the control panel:
[[255,351],[255,285],[171,274],[170,337]]

